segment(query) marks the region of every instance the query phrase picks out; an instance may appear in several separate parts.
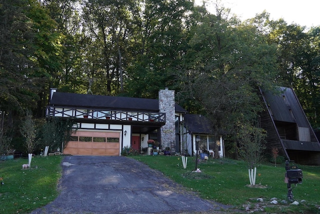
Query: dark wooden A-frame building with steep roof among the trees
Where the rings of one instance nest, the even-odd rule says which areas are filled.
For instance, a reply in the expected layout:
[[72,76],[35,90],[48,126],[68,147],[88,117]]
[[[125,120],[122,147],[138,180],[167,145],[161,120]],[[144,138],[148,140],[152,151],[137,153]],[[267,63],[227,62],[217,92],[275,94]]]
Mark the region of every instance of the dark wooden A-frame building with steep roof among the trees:
[[320,143],[292,88],[277,87],[271,93],[260,89],[265,103],[261,127],[267,131],[266,148],[296,163],[320,165]]

